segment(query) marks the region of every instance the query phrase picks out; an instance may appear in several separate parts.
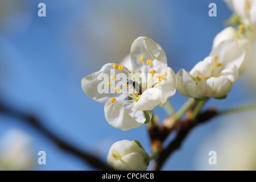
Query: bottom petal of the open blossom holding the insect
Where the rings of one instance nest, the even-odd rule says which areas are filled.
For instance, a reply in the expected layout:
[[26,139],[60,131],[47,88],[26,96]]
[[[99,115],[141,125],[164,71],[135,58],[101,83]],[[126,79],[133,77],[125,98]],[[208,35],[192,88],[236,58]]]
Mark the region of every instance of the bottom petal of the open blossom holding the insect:
[[139,127],[146,121],[143,111],[133,108],[133,102],[106,102],[104,111],[109,125],[121,130]]

